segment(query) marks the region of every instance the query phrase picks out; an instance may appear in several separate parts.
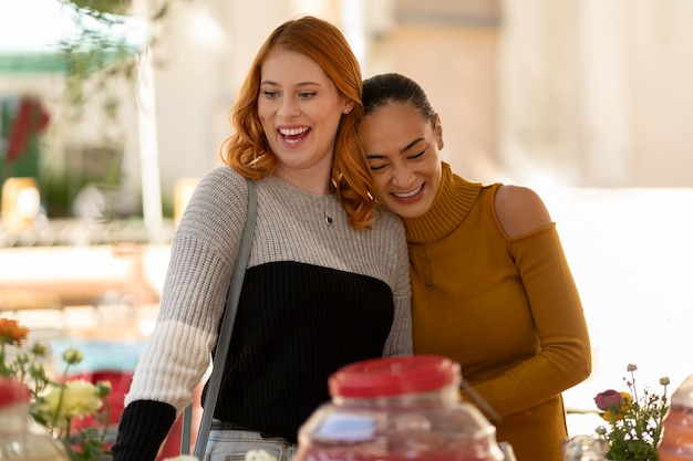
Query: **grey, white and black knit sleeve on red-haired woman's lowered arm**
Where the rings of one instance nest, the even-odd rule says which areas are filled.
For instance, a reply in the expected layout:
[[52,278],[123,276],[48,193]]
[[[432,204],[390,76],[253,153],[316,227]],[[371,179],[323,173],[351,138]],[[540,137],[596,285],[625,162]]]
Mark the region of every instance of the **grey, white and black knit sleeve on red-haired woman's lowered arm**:
[[158,317],[143,350],[113,447],[114,460],[154,460],[210,363],[247,214],[248,188],[230,168],[210,171],[172,243]]

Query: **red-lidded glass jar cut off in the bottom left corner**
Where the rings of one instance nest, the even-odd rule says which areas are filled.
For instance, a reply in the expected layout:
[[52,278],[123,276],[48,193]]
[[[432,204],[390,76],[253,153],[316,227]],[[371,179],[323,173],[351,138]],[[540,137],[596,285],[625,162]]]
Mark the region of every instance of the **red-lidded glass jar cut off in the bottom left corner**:
[[30,394],[23,383],[0,377],[0,461],[69,461],[60,442],[31,423]]

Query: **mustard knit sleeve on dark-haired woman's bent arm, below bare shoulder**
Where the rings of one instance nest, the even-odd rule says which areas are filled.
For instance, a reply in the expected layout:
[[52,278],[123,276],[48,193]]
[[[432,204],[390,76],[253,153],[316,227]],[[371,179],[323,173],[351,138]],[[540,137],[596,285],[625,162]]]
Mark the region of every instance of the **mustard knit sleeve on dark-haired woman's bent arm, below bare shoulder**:
[[509,250],[529,300],[540,350],[503,375],[475,385],[501,417],[546,401],[591,373],[582,304],[556,226],[511,239]]

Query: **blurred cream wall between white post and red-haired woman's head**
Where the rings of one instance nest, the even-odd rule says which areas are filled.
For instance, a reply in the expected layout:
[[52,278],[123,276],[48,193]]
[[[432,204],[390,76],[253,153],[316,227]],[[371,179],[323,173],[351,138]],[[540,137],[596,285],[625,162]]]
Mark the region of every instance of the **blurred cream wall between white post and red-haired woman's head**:
[[227,119],[250,61],[288,17],[271,0],[179,2],[155,48],[154,81],[164,197],[175,181],[219,163]]

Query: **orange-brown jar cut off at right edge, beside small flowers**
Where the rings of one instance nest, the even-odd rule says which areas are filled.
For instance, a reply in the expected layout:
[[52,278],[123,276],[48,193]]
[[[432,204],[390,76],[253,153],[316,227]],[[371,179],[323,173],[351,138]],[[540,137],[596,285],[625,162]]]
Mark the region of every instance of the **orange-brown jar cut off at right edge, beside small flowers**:
[[683,380],[671,396],[671,408],[664,417],[660,461],[693,460],[693,375]]

